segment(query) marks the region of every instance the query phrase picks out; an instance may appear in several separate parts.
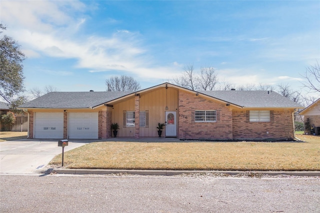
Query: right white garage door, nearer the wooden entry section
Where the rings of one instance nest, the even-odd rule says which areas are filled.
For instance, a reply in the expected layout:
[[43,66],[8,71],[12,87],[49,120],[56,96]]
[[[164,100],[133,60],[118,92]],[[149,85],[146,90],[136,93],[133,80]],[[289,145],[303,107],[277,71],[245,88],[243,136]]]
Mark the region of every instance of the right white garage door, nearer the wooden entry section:
[[98,113],[97,112],[70,112],[68,120],[69,139],[97,139]]

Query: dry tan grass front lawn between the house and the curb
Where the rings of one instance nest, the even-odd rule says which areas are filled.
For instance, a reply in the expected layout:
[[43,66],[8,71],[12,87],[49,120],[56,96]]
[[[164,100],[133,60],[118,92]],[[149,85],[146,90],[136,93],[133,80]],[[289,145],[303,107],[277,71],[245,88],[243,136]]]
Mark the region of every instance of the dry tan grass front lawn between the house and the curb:
[[319,171],[320,137],[296,137],[306,142],[95,142],[65,152],[64,168]]

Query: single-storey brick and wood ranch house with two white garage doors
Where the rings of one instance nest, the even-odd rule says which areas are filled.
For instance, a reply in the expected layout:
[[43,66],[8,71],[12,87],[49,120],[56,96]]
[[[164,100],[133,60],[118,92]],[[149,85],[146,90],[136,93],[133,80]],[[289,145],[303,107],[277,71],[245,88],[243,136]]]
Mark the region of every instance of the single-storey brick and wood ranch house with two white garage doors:
[[137,92],[50,92],[21,106],[28,138],[118,137],[244,140],[294,138],[301,105],[273,91],[191,91],[163,83]]

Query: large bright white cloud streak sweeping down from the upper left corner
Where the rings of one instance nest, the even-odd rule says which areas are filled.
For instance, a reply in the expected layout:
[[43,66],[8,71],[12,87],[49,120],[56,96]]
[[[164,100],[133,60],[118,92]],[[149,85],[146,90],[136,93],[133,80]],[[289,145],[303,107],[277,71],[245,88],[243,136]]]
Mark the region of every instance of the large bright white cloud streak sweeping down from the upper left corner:
[[122,29],[104,37],[78,36],[76,32],[86,19],[72,14],[84,9],[81,2],[4,1],[1,6],[3,22],[16,26],[10,28],[10,36],[26,47],[28,57],[42,54],[74,58],[75,67],[87,68],[89,72],[125,71],[150,79],[180,72],[174,68],[179,66],[177,63],[172,67],[152,65],[145,54],[147,50],[140,44],[139,33]]

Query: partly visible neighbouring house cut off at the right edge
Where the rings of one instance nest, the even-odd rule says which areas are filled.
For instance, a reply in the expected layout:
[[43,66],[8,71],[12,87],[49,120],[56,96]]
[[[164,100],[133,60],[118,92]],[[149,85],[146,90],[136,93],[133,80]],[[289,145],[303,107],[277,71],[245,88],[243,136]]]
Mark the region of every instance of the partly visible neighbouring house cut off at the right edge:
[[320,128],[320,98],[299,112],[299,115],[304,116],[304,122],[306,122],[306,119],[309,118],[315,134],[320,134],[318,130]]

